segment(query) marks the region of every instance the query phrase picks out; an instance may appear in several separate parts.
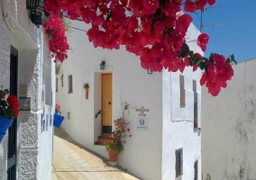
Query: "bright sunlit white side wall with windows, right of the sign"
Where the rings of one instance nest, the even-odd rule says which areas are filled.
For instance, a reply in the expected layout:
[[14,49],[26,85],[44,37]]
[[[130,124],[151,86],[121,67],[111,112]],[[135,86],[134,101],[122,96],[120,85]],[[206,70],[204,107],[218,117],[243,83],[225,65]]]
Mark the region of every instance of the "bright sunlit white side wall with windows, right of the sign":
[[[191,24],[187,31],[187,41],[197,40],[199,31]],[[188,43],[189,48],[199,52],[196,42]],[[197,80],[198,127],[201,119],[201,71],[184,70],[186,105],[180,107],[179,75],[163,72],[163,134],[162,134],[162,179],[175,179],[175,150],[183,148],[183,175],[181,179],[194,179],[194,163],[198,160],[198,180],[201,179],[201,136],[200,130],[194,130],[194,92],[193,80]]]

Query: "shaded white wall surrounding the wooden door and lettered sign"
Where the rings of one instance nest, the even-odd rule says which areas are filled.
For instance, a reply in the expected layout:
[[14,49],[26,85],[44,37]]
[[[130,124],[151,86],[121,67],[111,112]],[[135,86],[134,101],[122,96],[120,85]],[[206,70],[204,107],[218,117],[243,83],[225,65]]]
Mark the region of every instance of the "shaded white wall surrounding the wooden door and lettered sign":
[[[86,25],[73,22],[73,26],[86,29]],[[73,29],[72,39],[69,38],[71,49],[69,59],[62,67],[64,73],[64,87],[60,86],[57,93],[57,103],[62,106],[62,112],[66,116],[63,128],[69,135],[87,148],[91,148],[100,155],[107,157],[104,146],[95,146],[95,133],[100,127],[101,118],[95,118],[96,112],[101,108],[101,98],[96,94],[100,92],[100,85],[94,85],[99,79],[100,73],[113,73],[113,120],[121,117],[120,94],[122,101],[130,104],[127,121],[131,122],[133,137],[127,139],[124,152],[119,156],[118,163],[134,175],[142,179],[160,179],[161,163],[161,74],[148,75],[140,66],[140,59],[125,49],[107,50],[93,47],[88,43],[84,31]],[[102,59],[105,60],[105,70],[99,69]],[[73,76],[73,94],[68,94],[68,76]],[[60,76],[59,76],[60,77]],[[88,83],[89,98],[85,99],[83,85]],[[98,84],[98,83],[97,83]],[[96,101],[94,101],[94,98]],[[99,100],[99,101],[98,101]],[[136,117],[138,112],[133,108],[144,106],[150,109],[149,130],[136,130]],[[95,109],[94,109],[95,108]],[[71,119],[67,119],[67,112],[71,113]],[[153,156],[152,156],[153,155]],[[136,166],[134,166],[136,165]]]

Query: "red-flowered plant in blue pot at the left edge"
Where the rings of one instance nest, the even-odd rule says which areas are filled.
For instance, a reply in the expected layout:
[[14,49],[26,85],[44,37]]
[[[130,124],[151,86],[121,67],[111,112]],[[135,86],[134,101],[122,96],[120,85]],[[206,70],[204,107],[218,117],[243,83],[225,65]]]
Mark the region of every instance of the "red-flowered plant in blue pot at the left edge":
[[[8,97],[6,98],[6,96]],[[0,142],[5,136],[6,130],[12,125],[19,115],[19,102],[15,95],[8,89],[0,89]]]

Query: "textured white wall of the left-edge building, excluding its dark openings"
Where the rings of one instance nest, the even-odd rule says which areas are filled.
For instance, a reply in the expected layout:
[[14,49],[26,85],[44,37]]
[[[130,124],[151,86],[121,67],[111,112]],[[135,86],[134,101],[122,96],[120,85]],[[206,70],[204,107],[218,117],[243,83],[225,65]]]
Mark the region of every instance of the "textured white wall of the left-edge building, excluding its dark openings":
[[[0,4],[1,6],[2,4]],[[52,154],[52,128],[41,133],[41,90],[52,91],[54,76],[52,62],[42,28],[36,28],[28,17],[26,1],[3,1],[6,20],[0,14],[0,85],[9,88],[11,45],[18,50],[18,86],[27,86],[32,98],[30,112],[20,112],[17,119],[17,179],[50,179]],[[2,9],[2,7],[1,7]],[[48,65],[50,73],[42,86],[42,67]],[[53,73],[52,73],[53,72]],[[54,93],[52,94],[54,97]],[[51,93],[45,99],[50,102]],[[52,109],[53,111],[53,109]],[[6,179],[7,136],[0,143],[0,179]]]

